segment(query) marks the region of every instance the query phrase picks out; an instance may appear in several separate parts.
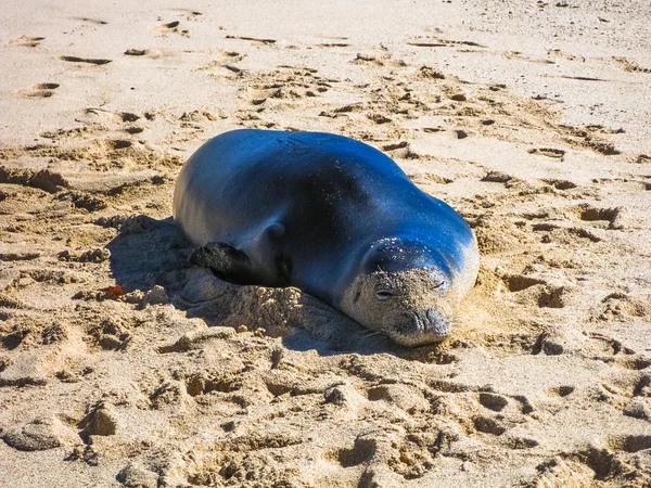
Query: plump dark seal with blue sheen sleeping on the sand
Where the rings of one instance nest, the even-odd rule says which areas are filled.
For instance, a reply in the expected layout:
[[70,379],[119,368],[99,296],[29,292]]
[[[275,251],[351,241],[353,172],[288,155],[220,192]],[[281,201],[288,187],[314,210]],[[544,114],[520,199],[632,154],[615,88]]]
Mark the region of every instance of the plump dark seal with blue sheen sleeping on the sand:
[[217,136],[181,169],[174,219],[218,277],[295,286],[405,346],[448,335],[477,275],[457,211],[379,150],[331,133]]

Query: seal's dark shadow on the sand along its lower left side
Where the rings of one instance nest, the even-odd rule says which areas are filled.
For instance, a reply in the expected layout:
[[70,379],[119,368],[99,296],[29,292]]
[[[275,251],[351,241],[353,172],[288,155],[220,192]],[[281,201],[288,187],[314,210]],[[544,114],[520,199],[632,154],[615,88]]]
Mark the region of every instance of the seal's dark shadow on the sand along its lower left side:
[[[191,245],[171,218],[144,215],[117,222],[118,235],[108,243],[111,271],[125,293],[164,288],[169,301],[208,325],[246,325],[281,336],[291,349],[316,349],[400,355],[401,347],[363,329],[348,317],[297,288],[239,286],[193,266]],[[400,355],[401,356],[401,355]]]

